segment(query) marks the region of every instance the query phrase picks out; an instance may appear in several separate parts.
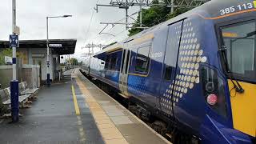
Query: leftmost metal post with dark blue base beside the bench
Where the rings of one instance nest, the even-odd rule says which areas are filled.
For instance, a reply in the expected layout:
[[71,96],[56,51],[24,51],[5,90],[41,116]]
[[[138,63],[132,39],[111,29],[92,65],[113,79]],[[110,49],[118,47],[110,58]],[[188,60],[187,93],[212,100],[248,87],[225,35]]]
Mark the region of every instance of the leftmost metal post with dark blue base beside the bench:
[[[12,1],[13,34],[16,27],[16,0]],[[12,122],[18,122],[18,80],[16,72],[16,46],[13,49],[13,80],[10,82],[10,106]]]

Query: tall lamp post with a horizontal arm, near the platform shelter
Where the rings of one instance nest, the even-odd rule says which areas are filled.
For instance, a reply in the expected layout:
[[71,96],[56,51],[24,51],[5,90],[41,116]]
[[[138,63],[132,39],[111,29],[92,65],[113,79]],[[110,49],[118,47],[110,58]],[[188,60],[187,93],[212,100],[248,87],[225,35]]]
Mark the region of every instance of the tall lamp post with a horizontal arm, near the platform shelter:
[[46,60],[46,66],[47,66],[47,75],[46,75],[46,83],[48,86],[50,86],[50,59],[49,59],[49,18],[67,18],[67,17],[72,17],[72,15],[62,15],[62,16],[50,16],[46,17],[46,34],[47,34],[47,40],[46,40],[46,45],[47,45],[47,60]]

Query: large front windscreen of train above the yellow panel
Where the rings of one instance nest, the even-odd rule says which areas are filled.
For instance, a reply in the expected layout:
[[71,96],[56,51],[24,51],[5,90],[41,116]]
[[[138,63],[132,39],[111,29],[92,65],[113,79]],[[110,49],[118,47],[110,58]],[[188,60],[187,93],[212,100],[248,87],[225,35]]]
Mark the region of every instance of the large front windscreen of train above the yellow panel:
[[234,78],[256,82],[255,21],[223,26],[221,30],[229,73]]

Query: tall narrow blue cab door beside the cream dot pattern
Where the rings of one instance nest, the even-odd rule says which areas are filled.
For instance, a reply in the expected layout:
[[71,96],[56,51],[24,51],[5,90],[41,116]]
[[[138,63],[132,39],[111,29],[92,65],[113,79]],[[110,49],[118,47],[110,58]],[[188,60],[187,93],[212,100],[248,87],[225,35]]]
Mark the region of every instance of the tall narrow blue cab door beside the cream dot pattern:
[[162,84],[159,98],[159,108],[167,116],[173,115],[173,102],[181,95],[173,94],[178,60],[178,50],[182,35],[182,22],[176,22],[169,26],[166,53],[163,62]]

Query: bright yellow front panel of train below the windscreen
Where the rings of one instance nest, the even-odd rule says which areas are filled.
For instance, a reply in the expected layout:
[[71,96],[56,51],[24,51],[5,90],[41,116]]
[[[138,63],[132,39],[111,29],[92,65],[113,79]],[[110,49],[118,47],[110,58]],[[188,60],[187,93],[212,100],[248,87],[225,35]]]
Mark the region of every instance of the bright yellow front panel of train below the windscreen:
[[234,129],[256,137],[256,84],[239,83],[245,90],[242,94],[234,90],[234,85],[229,80]]

